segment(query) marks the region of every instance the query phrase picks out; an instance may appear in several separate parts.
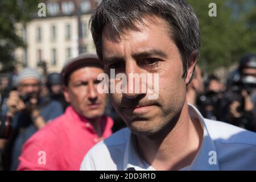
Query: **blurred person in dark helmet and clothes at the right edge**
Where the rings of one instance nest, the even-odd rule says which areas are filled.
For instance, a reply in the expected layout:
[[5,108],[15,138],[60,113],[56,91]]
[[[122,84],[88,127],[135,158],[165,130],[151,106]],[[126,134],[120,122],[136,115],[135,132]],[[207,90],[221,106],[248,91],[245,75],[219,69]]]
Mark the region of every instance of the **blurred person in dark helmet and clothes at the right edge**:
[[237,74],[233,75],[233,82],[229,81],[229,88],[225,93],[225,107],[228,114],[226,121],[256,131],[256,55],[245,55],[240,60]]

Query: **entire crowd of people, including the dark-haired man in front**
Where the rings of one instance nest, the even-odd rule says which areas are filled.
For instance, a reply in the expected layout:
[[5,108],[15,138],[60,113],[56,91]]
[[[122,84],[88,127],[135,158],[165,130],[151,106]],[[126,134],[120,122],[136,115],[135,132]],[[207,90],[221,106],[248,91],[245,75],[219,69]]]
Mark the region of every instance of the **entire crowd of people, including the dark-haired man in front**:
[[[44,78],[34,68],[1,78],[3,170],[256,169],[256,55],[221,82],[196,65],[192,7],[129,3],[103,1],[93,13],[98,56],[83,53]],[[110,68],[158,72],[159,97],[98,92],[98,75]],[[209,162],[212,151],[218,162]]]

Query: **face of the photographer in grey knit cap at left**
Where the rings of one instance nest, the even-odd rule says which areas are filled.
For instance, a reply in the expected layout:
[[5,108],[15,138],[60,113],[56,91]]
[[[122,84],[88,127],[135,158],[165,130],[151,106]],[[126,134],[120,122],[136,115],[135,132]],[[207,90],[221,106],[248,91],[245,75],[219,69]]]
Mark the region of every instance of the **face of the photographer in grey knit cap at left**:
[[21,96],[30,94],[32,97],[38,97],[40,93],[40,83],[34,78],[27,78],[20,82],[18,92]]

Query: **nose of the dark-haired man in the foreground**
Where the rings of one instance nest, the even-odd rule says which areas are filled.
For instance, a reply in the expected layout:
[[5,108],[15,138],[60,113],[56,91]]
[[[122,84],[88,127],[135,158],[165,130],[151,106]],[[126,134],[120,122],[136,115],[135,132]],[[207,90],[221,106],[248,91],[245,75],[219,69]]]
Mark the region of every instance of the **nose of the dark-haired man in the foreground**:
[[136,63],[126,64],[125,75],[127,77],[127,82],[124,89],[126,92],[123,92],[124,97],[134,99],[142,94],[146,94],[145,92],[142,92],[142,80],[140,80],[139,77],[137,78],[140,74],[141,69]]

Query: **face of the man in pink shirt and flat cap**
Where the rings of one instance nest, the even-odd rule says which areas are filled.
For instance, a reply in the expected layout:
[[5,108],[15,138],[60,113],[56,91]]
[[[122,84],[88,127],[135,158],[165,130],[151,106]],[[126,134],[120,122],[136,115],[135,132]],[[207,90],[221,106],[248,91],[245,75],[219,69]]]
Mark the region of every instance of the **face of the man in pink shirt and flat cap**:
[[98,93],[98,74],[104,73],[101,68],[85,67],[74,71],[69,77],[68,87],[64,88],[64,96],[77,113],[94,119],[104,114],[106,94]]

